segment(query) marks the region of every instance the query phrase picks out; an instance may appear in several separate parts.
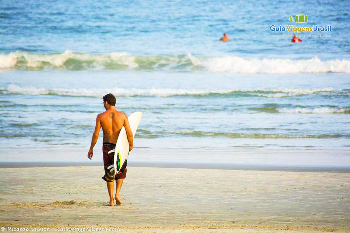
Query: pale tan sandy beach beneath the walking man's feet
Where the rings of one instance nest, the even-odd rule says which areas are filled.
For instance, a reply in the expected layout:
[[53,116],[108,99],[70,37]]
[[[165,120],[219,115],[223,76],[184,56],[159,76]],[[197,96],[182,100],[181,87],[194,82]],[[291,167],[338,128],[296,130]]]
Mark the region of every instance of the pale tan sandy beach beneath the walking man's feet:
[[113,207],[103,173],[97,166],[1,168],[0,225],[350,232],[349,173],[128,167],[123,204]]

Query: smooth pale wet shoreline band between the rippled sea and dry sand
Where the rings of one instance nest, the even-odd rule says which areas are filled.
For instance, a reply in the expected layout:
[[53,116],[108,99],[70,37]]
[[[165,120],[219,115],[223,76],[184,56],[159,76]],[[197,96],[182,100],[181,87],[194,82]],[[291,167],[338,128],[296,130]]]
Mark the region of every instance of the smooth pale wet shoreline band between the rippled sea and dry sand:
[[[103,167],[99,146],[92,160],[87,159],[86,155],[85,147],[3,148],[0,152],[0,168]],[[135,148],[128,157],[128,166],[349,173],[350,150]]]

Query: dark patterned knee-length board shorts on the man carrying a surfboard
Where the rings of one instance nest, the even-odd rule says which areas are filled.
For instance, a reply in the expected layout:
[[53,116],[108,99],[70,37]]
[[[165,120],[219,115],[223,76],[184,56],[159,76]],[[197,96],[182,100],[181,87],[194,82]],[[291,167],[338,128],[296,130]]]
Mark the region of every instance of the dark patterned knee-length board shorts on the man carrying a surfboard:
[[102,146],[103,165],[105,167],[105,175],[102,176],[102,179],[107,182],[111,182],[119,179],[125,179],[126,177],[127,160],[125,160],[124,165],[120,168],[119,172],[116,175],[114,175],[114,170],[111,172],[111,169],[108,168],[114,163],[114,152],[110,154],[108,152],[110,150],[113,150],[114,148],[116,148],[116,144],[113,144],[113,143],[103,143],[103,146]]

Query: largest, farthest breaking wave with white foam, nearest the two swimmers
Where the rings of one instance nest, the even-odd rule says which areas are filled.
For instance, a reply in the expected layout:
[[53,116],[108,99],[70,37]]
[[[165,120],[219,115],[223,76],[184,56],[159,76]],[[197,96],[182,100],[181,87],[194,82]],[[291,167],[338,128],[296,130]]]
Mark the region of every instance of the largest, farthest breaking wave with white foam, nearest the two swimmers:
[[[70,62],[67,62],[69,59]],[[91,54],[66,50],[63,53],[39,54],[11,52],[0,54],[0,68],[61,67],[76,69],[172,69],[207,70],[222,73],[350,73],[350,60],[245,59],[237,56],[196,57],[184,55],[134,56],[125,52]],[[195,69],[193,69],[195,67]]]

